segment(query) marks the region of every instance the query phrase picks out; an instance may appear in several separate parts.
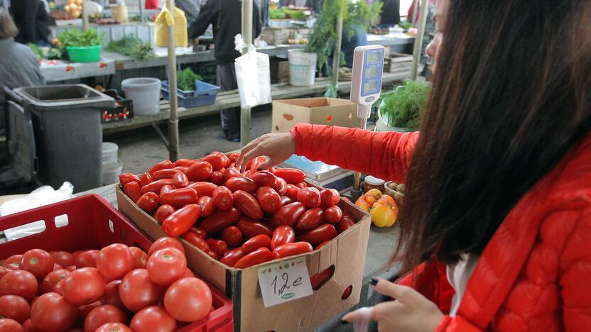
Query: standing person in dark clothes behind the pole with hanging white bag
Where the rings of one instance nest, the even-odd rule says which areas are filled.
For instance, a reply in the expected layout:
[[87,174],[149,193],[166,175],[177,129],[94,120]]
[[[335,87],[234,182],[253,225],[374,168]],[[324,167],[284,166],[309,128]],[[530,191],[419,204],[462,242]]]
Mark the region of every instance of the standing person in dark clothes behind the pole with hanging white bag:
[[[205,33],[210,24],[213,26],[214,55],[217,62],[217,84],[222,91],[238,88],[234,60],[240,56],[234,45],[234,36],[242,31],[240,0],[208,0],[201,8],[199,17],[189,28],[189,38],[195,39]],[[253,4],[252,37],[261,34],[259,9]],[[232,142],[240,141],[240,108],[222,109],[223,137]]]

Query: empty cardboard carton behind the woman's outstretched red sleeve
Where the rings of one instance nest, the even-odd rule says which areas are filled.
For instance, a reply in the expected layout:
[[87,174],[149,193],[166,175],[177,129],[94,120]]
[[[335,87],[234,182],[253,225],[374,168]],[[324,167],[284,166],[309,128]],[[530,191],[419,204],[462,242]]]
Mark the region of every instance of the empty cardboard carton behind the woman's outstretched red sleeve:
[[303,98],[273,101],[273,133],[287,133],[295,123],[357,127],[357,104],[347,99]]

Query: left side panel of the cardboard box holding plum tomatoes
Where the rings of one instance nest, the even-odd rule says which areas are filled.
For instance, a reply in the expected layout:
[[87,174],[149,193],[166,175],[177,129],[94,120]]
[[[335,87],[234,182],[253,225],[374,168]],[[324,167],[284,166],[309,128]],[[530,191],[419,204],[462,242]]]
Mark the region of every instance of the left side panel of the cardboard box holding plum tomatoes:
[[[158,224],[156,219],[152,218],[149,214],[146,214],[143,210],[139,209],[119,187],[116,187],[117,205],[119,211],[123,212],[125,216],[131,219],[139,228],[148,233],[153,239],[162,238],[166,236],[166,233],[162,231],[162,227]],[[217,289],[221,290],[228,297],[227,282],[226,282],[226,269],[221,263],[215,263],[209,255],[203,253],[197,249],[194,245],[188,243],[183,238],[178,238],[187,253],[187,264],[193,270],[193,272],[203,277],[207,282],[212,284]]]

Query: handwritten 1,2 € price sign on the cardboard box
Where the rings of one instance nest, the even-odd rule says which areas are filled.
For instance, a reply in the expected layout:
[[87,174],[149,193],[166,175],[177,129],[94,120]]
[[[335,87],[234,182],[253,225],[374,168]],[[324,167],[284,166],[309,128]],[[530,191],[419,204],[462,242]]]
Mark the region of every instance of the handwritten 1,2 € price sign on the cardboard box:
[[312,295],[305,258],[284,260],[259,269],[265,308]]

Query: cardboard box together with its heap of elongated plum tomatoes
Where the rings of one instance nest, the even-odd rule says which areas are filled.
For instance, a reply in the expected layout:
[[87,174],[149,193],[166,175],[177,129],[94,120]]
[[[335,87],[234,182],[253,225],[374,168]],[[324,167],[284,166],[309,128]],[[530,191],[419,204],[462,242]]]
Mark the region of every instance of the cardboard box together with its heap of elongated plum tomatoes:
[[[232,299],[236,331],[311,331],[357,304],[369,214],[310,189],[296,170],[258,171],[265,160],[255,159],[241,173],[236,158],[212,153],[122,175],[119,210],[152,238],[180,235],[188,265]],[[313,294],[265,307],[259,269],[294,257],[305,259]]]

